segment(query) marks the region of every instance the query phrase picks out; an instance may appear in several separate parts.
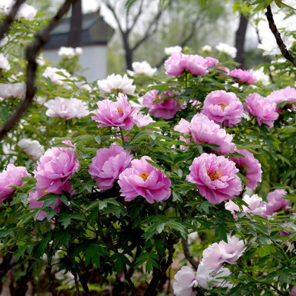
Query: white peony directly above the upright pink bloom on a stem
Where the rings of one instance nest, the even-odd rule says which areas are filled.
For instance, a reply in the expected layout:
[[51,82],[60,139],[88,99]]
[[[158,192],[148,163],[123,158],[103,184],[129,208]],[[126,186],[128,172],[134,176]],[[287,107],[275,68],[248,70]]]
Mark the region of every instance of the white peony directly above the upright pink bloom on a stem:
[[100,90],[104,92],[118,91],[123,94],[134,94],[135,85],[132,85],[134,80],[129,79],[128,75],[111,74],[104,80],[98,80]]

